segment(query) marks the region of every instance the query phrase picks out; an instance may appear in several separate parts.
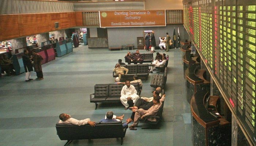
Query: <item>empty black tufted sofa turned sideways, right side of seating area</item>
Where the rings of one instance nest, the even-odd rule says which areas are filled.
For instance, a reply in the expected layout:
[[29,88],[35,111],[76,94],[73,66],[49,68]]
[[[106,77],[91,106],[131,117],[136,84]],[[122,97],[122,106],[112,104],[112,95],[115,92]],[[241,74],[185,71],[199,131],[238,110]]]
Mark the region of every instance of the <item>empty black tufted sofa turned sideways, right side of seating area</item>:
[[165,87],[167,81],[167,68],[163,73],[155,74],[152,77],[150,86],[153,88],[161,87],[162,89]]

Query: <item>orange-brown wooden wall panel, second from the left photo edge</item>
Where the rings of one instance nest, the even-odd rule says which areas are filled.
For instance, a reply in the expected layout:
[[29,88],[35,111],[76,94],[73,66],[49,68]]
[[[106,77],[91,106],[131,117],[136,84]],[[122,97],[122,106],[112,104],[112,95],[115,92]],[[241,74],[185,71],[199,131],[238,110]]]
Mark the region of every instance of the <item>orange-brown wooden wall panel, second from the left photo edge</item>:
[[35,35],[37,33],[37,17],[36,14],[18,15],[20,36]]

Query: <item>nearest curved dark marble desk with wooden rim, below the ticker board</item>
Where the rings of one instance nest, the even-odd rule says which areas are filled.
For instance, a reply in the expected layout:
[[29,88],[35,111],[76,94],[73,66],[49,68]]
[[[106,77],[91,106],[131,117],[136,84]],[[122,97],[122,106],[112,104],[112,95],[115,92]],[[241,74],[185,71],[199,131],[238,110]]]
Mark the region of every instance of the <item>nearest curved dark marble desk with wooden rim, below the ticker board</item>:
[[216,118],[205,106],[207,91],[197,91],[191,99],[194,146],[231,146],[231,123]]

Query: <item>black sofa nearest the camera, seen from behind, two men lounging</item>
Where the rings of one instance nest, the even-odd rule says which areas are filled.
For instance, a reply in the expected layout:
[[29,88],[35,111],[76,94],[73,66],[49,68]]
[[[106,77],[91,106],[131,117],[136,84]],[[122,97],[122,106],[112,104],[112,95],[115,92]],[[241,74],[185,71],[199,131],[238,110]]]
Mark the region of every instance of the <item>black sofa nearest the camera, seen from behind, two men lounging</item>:
[[57,135],[60,140],[67,140],[64,146],[78,139],[100,139],[100,138],[121,138],[121,145],[127,127],[123,128],[122,121],[119,122],[96,122],[95,127],[89,124],[76,126],[73,124],[56,123]]

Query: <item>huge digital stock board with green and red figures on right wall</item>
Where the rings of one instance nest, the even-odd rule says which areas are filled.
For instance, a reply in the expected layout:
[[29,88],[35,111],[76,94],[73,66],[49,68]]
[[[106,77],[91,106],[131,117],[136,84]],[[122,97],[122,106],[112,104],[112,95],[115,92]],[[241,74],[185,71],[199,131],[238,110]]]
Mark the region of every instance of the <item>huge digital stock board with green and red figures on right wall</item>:
[[256,145],[256,0],[183,0],[184,26]]

